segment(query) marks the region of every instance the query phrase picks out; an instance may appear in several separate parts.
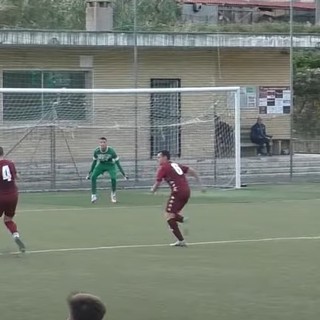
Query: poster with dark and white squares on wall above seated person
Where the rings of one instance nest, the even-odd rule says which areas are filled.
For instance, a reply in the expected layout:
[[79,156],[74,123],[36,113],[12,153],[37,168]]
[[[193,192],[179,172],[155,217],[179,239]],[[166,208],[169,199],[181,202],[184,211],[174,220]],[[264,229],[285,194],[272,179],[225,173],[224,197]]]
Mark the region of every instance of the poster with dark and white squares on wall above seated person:
[[289,87],[259,87],[260,114],[289,114],[291,92]]

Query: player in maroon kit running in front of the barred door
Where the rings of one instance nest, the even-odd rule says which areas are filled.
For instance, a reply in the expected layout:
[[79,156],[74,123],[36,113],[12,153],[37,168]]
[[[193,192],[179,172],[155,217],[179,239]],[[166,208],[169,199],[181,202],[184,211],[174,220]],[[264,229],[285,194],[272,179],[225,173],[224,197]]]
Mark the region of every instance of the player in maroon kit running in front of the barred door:
[[[165,217],[172,233],[178,239],[175,243],[172,243],[171,246],[185,247],[186,243],[178,223],[186,221],[186,218],[181,215],[181,210],[190,198],[190,187],[186,175],[188,174],[195,177],[199,185],[201,185],[201,181],[197,172],[192,168],[170,161],[169,151],[160,151],[157,158],[159,169],[156,182],[151,188],[151,192],[155,193],[157,191],[162,180],[165,180],[169,184],[171,195],[167,202]],[[202,190],[204,191],[203,188]]]

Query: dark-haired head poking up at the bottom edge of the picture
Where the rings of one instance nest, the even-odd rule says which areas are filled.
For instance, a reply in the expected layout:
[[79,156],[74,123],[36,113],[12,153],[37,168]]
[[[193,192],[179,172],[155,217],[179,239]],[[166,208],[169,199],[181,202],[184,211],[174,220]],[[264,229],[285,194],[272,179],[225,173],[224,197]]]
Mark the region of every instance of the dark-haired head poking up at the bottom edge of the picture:
[[73,293],[67,299],[72,320],[102,320],[106,307],[98,298],[88,293]]

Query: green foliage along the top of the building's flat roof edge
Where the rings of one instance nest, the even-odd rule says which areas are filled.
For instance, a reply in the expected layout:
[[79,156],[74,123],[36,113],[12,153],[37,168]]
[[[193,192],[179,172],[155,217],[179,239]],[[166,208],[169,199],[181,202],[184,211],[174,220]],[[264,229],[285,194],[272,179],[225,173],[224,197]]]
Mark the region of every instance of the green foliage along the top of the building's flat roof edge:
[[[113,0],[114,30],[133,31],[134,0]],[[212,25],[182,23],[176,0],[136,0],[137,31],[289,33],[287,22]],[[84,30],[85,0],[0,0],[0,28]],[[295,24],[295,33],[320,33],[320,26]]]

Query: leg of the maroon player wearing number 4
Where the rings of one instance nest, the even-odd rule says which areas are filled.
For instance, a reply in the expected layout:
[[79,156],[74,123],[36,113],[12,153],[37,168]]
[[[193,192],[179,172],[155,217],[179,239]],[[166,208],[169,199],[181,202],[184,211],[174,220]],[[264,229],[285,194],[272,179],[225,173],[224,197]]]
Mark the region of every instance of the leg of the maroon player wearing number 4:
[[7,227],[7,229],[9,230],[9,232],[12,234],[12,237],[15,243],[18,245],[19,250],[21,252],[25,252],[26,247],[20,238],[17,224],[13,221],[13,217],[16,214],[17,203],[18,203],[18,195],[7,196],[3,222]]

